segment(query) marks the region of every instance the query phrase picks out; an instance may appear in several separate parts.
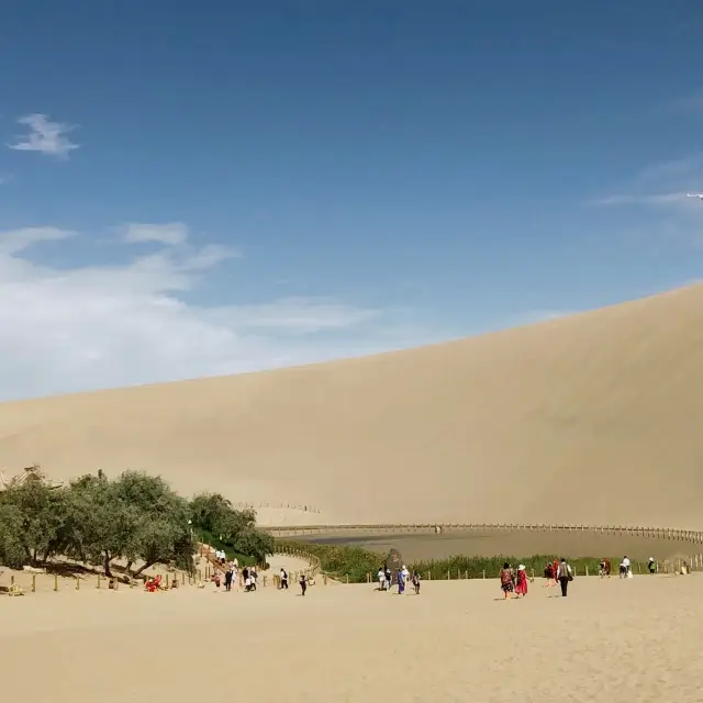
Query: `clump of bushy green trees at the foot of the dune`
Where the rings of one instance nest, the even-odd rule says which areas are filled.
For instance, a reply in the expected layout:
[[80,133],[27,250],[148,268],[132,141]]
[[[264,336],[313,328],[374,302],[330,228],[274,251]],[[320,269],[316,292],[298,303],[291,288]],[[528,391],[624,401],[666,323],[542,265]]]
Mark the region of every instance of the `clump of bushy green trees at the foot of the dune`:
[[55,488],[41,479],[0,493],[0,562],[21,568],[65,555],[102,565],[111,576],[115,559],[149,566],[172,563],[192,569],[192,527],[235,540],[239,551],[265,558],[270,535],[255,526],[253,511],[237,511],[222,495],[192,501],[178,495],[160,477],[125,471],[109,479],[102,471]]

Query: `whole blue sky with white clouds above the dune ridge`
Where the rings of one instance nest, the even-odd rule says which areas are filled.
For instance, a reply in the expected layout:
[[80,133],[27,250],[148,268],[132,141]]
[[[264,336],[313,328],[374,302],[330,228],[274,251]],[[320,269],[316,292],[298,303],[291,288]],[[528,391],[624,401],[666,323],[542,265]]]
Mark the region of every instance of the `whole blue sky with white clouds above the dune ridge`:
[[698,279],[700,2],[435,4],[4,8],[0,397],[413,346]]

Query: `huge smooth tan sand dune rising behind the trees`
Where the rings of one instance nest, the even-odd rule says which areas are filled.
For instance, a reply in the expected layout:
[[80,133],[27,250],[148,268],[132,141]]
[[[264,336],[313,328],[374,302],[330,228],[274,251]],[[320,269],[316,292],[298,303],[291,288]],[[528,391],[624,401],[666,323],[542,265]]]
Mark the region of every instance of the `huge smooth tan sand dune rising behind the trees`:
[[268,522],[699,528],[703,286],[360,359],[0,404],[0,464],[312,505]]

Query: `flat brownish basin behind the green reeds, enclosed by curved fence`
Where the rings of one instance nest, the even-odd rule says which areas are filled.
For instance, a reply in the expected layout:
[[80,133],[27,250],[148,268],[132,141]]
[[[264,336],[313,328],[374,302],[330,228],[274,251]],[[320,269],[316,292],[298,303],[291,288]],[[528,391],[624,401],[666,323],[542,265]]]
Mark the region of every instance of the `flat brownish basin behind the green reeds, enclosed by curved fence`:
[[703,554],[703,545],[671,539],[636,536],[594,535],[579,532],[512,532],[353,535],[348,533],[291,537],[298,542],[341,544],[365,547],[388,554],[398,549],[406,561],[442,559],[455,555],[492,557],[507,555],[531,557],[538,554],[566,557],[622,557],[646,562],[649,557],[662,561],[680,555]]

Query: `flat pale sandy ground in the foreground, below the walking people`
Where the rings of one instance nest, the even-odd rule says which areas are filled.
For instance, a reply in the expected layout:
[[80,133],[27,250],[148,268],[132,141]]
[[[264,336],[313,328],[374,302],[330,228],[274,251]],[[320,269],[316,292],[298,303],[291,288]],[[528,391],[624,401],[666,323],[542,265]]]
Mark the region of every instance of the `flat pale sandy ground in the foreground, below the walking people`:
[[[420,596],[366,585],[255,594],[185,590],[0,598],[8,700],[696,701],[703,578],[539,581],[503,602],[496,580]],[[36,673],[41,672],[41,680]]]

